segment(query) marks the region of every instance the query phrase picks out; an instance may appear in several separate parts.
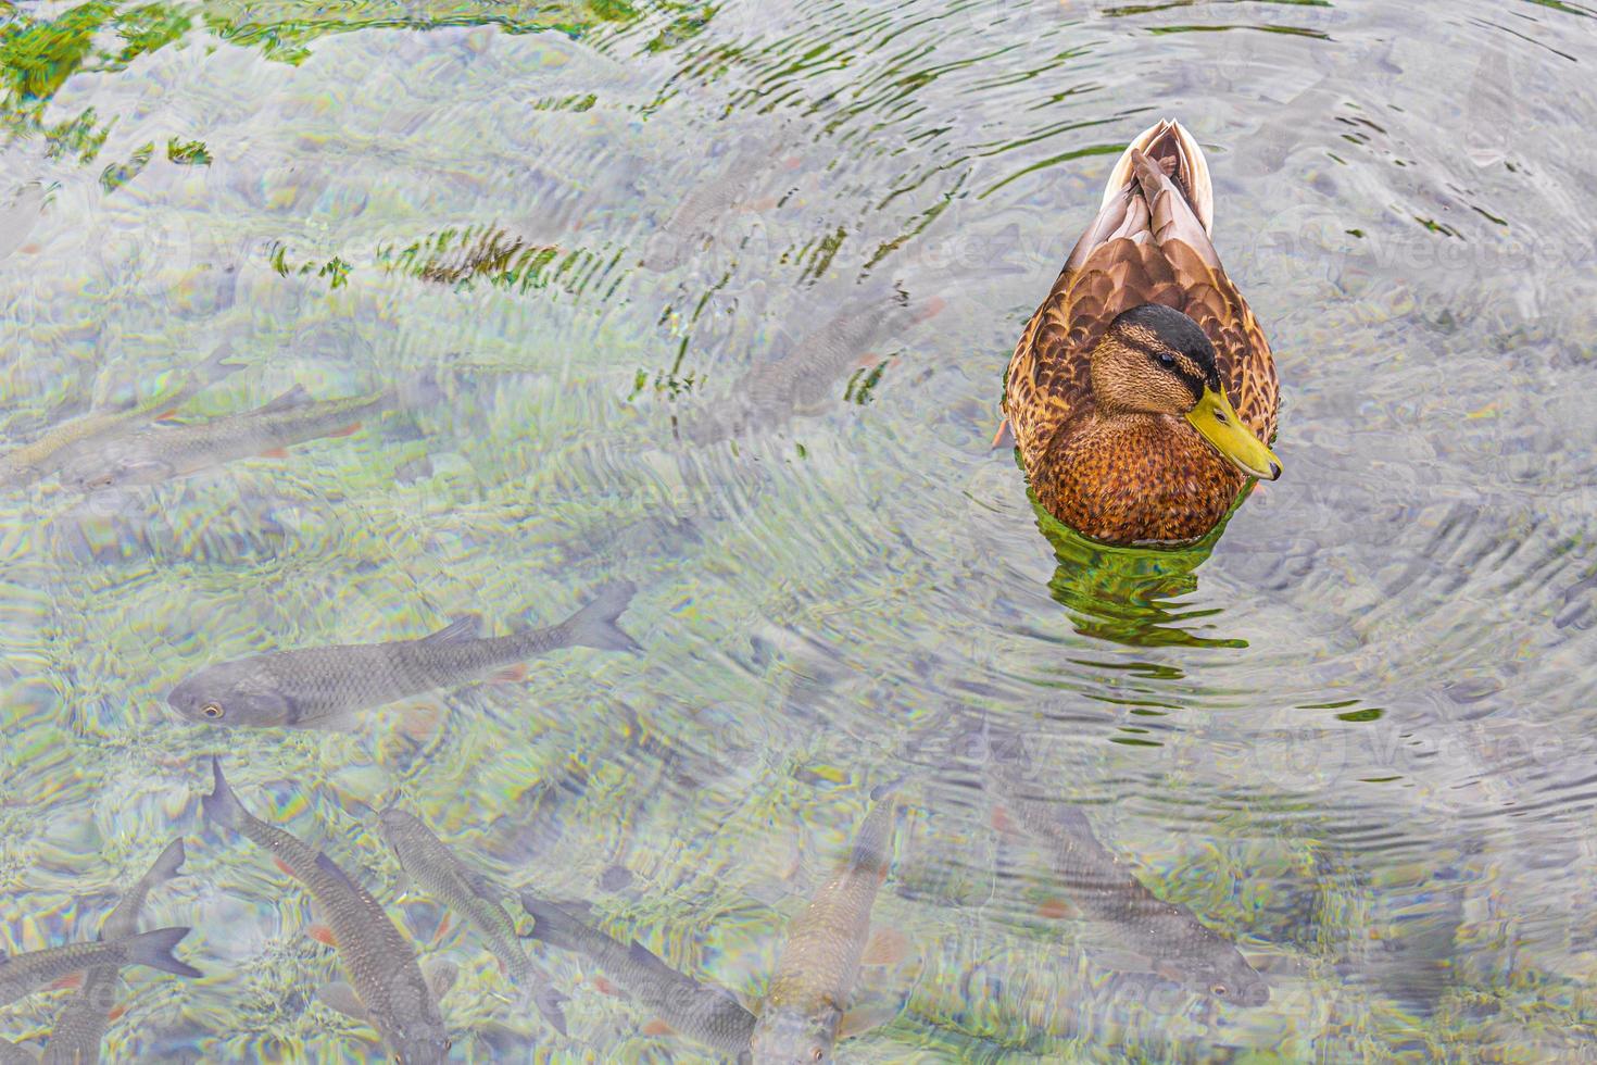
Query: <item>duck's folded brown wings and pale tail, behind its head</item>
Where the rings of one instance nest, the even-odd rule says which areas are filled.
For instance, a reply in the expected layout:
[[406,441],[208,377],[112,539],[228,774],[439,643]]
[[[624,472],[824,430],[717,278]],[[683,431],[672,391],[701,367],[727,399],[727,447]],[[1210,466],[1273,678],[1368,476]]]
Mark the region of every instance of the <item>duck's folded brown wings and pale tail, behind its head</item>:
[[1225,276],[1207,228],[1171,177],[1183,174],[1187,163],[1179,153],[1190,139],[1171,133],[1150,141],[1150,134],[1139,137],[1147,152],[1137,144],[1127,150],[1124,188],[1076,241],[1016,343],[1005,417],[1022,453],[1046,447],[1067,420],[1091,406],[1092,348],[1116,315],[1142,303],[1174,307],[1196,321],[1215,346],[1220,378],[1238,414],[1260,439],[1274,436],[1278,385],[1270,345]]

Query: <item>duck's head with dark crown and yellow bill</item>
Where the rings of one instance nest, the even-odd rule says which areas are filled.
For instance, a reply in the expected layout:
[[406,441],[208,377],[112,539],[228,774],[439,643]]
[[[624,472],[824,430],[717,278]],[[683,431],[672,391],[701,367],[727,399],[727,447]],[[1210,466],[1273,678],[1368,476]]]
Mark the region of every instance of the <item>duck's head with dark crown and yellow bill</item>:
[[1107,415],[1183,417],[1247,476],[1281,476],[1281,461],[1236,417],[1209,337],[1172,307],[1143,303],[1110,323],[1092,350],[1092,398]]

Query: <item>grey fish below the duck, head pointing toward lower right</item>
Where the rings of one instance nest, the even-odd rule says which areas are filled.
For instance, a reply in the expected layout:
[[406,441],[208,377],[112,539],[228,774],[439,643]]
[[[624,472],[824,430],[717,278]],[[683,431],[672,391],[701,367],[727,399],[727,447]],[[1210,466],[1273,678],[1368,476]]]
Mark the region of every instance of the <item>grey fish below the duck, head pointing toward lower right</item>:
[[1036,797],[1019,736],[995,736],[993,782],[1005,813],[1052,854],[1065,899],[1096,928],[1115,953],[1147,961],[1153,972],[1188,992],[1263,1006],[1270,985],[1230,939],[1179,902],[1153,894],[1110,848],[1099,841],[1081,810]]

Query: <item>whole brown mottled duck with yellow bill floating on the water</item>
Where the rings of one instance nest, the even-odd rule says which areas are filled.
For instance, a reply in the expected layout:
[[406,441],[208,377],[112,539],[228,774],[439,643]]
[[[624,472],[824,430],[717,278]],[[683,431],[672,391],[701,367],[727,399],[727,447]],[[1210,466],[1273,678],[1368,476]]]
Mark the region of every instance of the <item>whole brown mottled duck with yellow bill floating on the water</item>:
[[1198,540],[1249,477],[1281,476],[1262,442],[1276,366],[1212,216],[1209,163],[1180,123],[1132,141],[1009,361],[1003,412],[1032,492],[1094,540]]

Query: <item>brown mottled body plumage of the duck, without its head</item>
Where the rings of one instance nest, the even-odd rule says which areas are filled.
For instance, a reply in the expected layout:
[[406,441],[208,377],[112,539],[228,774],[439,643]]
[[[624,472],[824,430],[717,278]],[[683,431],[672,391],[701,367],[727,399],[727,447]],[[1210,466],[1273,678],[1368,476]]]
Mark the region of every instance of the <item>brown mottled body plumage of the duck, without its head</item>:
[[[1276,433],[1279,388],[1270,343],[1171,180],[1174,160],[1161,152],[1174,152],[1174,145],[1155,139],[1145,155],[1134,155],[1134,180],[1104,206],[1072,251],[1020,334],[1005,385],[1005,417],[1038,500],[1080,532],[1115,541],[1201,536],[1246,482],[1182,418],[1145,425],[1131,439],[1119,439],[1131,431],[1123,426],[1113,442],[1134,439],[1148,449],[1135,461],[1107,453],[1107,436],[1083,439],[1102,436],[1092,417],[1091,356],[1116,315],[1163,303],[1196,321],[1214,343],[1220,382],[1238,415],[1265,442]],[[1097,447],[1083,453],[1083,442]],[[1078,465],[1073,476],[1059,476],[1065,461]],[[1083,461],[1089,469],[1080,468]],[[1199,498],[1159,519],[1159,508],[1171,511],[1171,500],[1182,493]],[[1110,506],[1118,497],[1126,497],[1124,505]],[[1105,506],[1119,513],[1110,522],[1113,530],[1104,525]],[[1134,529],[1143,535],[1126,535],[1139,524],[1148,525]]]

